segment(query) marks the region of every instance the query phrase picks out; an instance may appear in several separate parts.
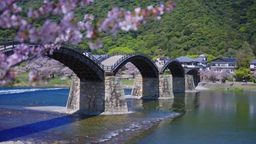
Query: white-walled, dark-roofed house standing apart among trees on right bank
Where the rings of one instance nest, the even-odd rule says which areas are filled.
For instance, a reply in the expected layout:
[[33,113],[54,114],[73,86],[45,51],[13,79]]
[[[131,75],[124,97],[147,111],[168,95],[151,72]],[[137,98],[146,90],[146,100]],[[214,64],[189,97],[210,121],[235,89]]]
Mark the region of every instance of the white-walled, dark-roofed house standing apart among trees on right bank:
[[228,70],[230,73],[233,73],[236,70],[236,58],[218,57],[213,59],[210,64],[210,69],[215,69],[220,72]]

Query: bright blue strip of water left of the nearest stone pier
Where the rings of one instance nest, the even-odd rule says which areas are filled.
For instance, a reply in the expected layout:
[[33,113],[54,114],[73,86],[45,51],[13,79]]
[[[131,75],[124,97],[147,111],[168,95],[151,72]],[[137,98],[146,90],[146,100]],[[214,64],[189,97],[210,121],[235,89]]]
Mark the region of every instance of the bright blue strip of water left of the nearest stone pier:
[[0,88],[2,106],[66,106],[69,88]]

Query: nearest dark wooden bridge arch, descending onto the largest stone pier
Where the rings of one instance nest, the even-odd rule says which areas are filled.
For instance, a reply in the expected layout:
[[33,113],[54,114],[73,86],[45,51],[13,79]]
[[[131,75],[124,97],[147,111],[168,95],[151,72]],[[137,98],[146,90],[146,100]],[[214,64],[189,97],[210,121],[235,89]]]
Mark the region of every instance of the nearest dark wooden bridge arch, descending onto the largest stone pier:
[[[8,41],[0,44],[0,52],[6,55],[12,55],[18,40]],[[55,49],[53,55],[46,55],[60,63],[63,63],[83,81],[103,81],[103,65],[97,61],[90,53],[84,53],[78,46],[72,44],[63,44],[60,49]]]

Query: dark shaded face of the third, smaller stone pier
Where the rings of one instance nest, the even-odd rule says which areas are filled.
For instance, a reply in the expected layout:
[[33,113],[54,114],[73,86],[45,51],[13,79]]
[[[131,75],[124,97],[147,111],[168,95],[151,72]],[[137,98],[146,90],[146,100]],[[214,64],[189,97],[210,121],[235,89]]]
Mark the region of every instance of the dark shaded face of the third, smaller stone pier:
[[185,92],[185,77],[172,77],[172,88],[174,93]]

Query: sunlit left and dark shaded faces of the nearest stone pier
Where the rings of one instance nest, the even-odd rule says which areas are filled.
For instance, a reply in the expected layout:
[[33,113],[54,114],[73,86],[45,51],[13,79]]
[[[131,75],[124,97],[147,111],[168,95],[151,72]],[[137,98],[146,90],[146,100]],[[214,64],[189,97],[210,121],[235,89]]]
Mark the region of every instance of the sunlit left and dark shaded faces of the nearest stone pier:
[[104,81],[82,81],[73,77],[67,109],[90,115],[102,113],[105,107],[104,89]]

